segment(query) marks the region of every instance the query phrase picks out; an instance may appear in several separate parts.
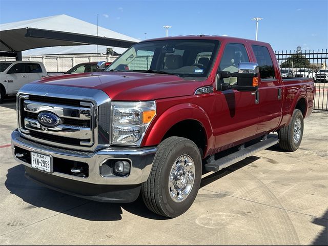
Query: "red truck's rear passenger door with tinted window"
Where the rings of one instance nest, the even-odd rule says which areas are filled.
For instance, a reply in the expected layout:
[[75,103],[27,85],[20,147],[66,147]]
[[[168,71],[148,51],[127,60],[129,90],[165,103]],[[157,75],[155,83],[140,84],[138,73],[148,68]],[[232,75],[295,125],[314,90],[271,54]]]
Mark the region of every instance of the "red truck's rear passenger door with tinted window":
[[278,64],[273,53],[265,46],[252,45],[259,65],[259,125],[257,134],[273,131],[279,125],[282,110],[283,88]]

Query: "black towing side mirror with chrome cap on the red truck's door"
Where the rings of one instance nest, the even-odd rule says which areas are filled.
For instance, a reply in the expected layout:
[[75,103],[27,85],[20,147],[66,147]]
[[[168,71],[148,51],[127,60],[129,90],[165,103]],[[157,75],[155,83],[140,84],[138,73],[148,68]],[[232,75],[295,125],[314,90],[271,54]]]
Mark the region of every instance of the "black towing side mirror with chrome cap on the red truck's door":
[[[257,63],[239,63],[238,72],[219,71],[216,77],[216,88],[221,91],[230,89],[237,91],[256,91],[258,89],[258,73]],[[220,79],[229,77],[237,77],[237,85],[223,83]]]

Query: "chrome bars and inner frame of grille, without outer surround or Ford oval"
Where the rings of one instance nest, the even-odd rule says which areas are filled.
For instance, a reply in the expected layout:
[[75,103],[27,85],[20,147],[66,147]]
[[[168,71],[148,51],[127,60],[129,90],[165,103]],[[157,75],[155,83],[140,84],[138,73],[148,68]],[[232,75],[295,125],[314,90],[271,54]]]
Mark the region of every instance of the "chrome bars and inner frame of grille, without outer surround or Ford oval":
[[[25,96],[22,102],[21,113],[22,126],[20,129],[33,137],[65,143],[74,146],[92,146],[94,144],[94,106],[88,101],[79,101],[80,106],[61,105],[47,103],[58,101],[60,98],[38,97],[41,102],[34,101],[35,98]],[[76,104],[75,104],[76,105]],[[48,128],[40,124],[37,116],[41,112],[51,112],[60,118],[60,124]]]

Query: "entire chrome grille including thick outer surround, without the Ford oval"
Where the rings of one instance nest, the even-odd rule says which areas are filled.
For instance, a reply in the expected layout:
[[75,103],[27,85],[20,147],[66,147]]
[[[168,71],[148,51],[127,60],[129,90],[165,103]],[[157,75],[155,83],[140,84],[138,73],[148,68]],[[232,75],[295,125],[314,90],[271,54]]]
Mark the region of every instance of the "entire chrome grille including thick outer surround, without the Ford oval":
[[[26,88],[28,86],[23,87]],[[45,87],[45,86],[44,86]],[[45,90],[44,87],[40,87]],[[47,88],[62,87],[48,86]],[[39,87],[35,87],[38,88]],[[64,88],[67,92],[67,88]],[[96,92],[95,92],[96,91]],[[74,93],[73,93],[74,92]],[[35,93],[35,94],[34,94]],[[79,150],[94,150],[109,146],[110,99],[94,89],[73,88],[67,95],[43,93],[17,94],[18,129],[26,138],[52,146]],[[93,96],[89,97],[87,95]],[[99,95],[100,95],[100,100]],[[86,95],[86,96],[85,96]],[[71,98],[68,98],[71,97]],[[72,99],[73,98],[73,99]],[[47,127],[40,122],[40,113],[51,113],[58,118],[58,125]]]

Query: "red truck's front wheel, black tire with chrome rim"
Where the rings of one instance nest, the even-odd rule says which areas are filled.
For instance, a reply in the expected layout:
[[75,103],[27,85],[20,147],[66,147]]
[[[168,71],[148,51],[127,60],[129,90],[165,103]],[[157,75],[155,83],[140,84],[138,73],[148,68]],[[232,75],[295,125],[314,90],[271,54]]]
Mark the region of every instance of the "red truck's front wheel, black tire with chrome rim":
[[[141,187],[147,208],[169,218],[185,213],[197,196],[201,169],[201,156],[193,141],[182,137],[163,140],[158,145],[149,178]],[[179,183],[181,177],[184,184]]]

